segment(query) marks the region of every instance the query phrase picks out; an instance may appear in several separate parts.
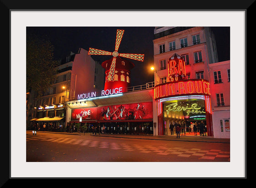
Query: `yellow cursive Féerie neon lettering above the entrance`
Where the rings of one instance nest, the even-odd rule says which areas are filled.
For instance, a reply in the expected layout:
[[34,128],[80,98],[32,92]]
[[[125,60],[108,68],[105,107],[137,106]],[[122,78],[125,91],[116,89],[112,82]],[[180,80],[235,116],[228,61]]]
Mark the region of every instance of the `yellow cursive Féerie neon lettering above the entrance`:
[[183,106],[178,106],[178,103],[174,102],[173,104],[166,106],[166,108],[168,108],[166,110],[167,114],[169,114],[169,112],[171,112],[171,111],[172,112],[180,112],[180,111],[186,111],[186,110],[187,110],[187,115],[189,115],[190,113],[192,113],[192,114],[205,113],[203,111],[203,109],[200,110],[201,107],[197,107],[197,103],[193,103],[191,105],[191,107],[188,107],[188,104],[186,107],[183,107]]

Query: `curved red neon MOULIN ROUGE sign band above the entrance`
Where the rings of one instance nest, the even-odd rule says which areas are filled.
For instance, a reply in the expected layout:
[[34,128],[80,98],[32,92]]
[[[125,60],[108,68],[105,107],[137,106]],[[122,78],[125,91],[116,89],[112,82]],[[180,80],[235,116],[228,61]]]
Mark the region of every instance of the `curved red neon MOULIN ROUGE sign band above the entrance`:
[[155,86],[154,89],[155,99],[189,94],[211,95],[209,82],[199,79],[167,82]]

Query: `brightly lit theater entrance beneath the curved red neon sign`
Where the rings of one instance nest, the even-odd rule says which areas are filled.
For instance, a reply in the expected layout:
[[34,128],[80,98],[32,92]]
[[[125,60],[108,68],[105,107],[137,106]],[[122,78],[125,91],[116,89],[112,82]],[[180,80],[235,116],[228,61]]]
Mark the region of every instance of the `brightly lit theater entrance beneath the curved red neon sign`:
[[[185,96],[170,97],[162,100],[162,126],[163,135],[176,134],[176,126],[173,127],[173,133],[170,129],[171,124],[179,124],[181,135],[186,136],[209,136],[211,131],[211,118],[207,111],[207,102],[205,97]],[[211,117],[211,116],[210,116]],[[160,120],[160,118],[159,118]]]

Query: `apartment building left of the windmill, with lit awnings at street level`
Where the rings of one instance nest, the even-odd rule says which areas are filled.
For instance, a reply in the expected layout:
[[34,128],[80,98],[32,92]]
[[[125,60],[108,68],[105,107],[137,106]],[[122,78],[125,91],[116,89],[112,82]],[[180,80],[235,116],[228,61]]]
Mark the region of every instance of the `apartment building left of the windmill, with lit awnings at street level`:
[[38,98],[35,92],[31,92],[34,110],[29,116],[30,124],[38,123],[39,127],[46,124],[48,130],[55,131],[65,127],[65,102],[76,99],[79,93],[101,91],[105,78],[102,66],[83,48],[59,60],[56,69],[56,79],[42,97]]

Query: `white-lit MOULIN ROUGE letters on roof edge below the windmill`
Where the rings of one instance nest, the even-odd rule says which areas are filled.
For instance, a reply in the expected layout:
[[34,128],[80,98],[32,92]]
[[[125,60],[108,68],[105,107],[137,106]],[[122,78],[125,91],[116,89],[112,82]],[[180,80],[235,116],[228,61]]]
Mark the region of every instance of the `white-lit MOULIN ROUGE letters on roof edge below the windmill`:
[[[102,90],[101,91],[101,96],[109,96],[109,95],[116,95],[123,93],[123,87],[117,87],[114,89],[107,89],[107,90]],[[101,97],[97,96],[96,91],[95,92],[89,92],[89,93],[82,93],[77,96],[77,99],[88,99],[88,98],[93,98],[93,97]]]

